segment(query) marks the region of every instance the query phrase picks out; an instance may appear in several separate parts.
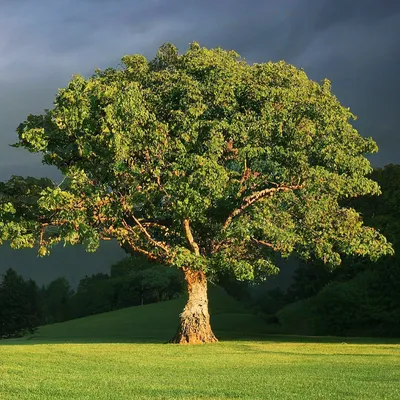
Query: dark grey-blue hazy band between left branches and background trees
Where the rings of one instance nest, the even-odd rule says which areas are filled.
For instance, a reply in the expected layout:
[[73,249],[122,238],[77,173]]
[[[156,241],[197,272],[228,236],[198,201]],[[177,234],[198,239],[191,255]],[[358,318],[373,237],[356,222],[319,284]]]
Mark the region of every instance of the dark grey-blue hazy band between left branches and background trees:
[[50,256],[43,258],[34,249],[13,250],[3,245],[0,246],[0,275],[13,268],[39,285],[63,276],[75,287],[86,274],[109,272],[111,264],[125,256],[116,242],[103,242],[95,253],[87,253],[82,246],[58,245]]

